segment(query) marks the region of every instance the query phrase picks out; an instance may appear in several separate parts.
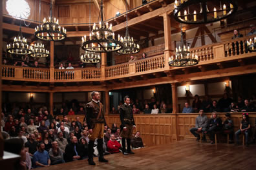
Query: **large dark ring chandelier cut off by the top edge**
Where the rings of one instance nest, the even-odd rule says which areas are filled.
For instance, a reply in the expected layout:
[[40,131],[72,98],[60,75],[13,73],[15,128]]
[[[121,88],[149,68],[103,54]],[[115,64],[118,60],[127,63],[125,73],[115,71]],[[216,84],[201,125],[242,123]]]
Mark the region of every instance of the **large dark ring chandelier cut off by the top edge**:
[[236,11],[237,4],[233,0],[175,0],[173,14],[180,23],[203,24],[226,19]]

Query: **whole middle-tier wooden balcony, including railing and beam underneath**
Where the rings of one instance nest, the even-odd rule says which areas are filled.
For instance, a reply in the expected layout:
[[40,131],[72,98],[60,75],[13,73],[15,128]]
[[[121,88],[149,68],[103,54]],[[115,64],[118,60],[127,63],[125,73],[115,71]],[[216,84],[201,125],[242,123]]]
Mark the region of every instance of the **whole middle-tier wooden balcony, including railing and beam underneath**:
[[[198,55],[199,63],[186,68],[169,67],[164,54],[138,59],[103,68],[76,68],[74,70],[58,70],[54,68],[28,68],[19,66],[3,66],[3,80],[31,82],[123,82],[125,79],[141,80],[173,77],[177,82],[185,80],[184,74],[220,70],[220,73],[233,71],[226,76],[244,73],[255,73],[256,53],[246,50],[246,41],[254,36],[241,37],[230,41],[218,42],[197,48],[191,48],[191,53]],[[242,69],[240,73],[235,70]],[[233,70],[232,70],[233,69]],[[211,71],[211,72],[210,72]],[[152,75],[152,76],[151,76]]]

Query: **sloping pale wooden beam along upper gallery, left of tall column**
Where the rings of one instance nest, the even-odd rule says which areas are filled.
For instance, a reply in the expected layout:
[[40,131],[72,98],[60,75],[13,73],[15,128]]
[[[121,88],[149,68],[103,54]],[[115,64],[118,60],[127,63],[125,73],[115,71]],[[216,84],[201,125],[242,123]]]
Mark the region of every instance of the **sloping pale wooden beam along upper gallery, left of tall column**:
[[[128,26],[133,26],[134,24],[142,23],[144,21],[147,21],[149,19],[153,19],[155,17],[158,17],[158,15],[163,14],[164,12],[171,11],[174,8],[174,3],[171,3],[165,7],[158,8],[156,10],[153,10],[152,12],[147,12],[146,14],[140,15],[139,17],[135,17],[131,19],[128,23]],[[113,26],[113,31],[116,32],[117,30],[122,30],[125,28],[126,23],[120,23],[118,25]]]

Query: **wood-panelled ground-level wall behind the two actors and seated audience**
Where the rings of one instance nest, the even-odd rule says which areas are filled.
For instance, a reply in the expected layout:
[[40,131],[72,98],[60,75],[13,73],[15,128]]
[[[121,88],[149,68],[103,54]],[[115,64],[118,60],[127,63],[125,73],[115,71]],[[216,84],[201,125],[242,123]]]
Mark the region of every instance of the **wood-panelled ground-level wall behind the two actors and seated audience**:
[[[211,113],[206,113],[208,118]],[[256,113],[250,113],[250,122],[253,131],[255,131]],[[83,120],[83,115],[78,115]],[[169,144],[176,140],[195,140],[189,129],[195,127],[195,118],[198,113],[178,113],[178,114],[158,114],[158,115],[134,115],[136,131],[140,131],[142,139],[146,146],[155,146],[160,144]],[[74,120],[76,116],[70,117]],[[225,113],[219,113],[219,117],[225,120]],[[119,115],[105,115],[107,124],[111,127],[113,123],[120,126]],[[242,113],[231,113],[234,122],[234,131],[237,131],[242,120]],[[253,133],[254,134],[254,133]]]

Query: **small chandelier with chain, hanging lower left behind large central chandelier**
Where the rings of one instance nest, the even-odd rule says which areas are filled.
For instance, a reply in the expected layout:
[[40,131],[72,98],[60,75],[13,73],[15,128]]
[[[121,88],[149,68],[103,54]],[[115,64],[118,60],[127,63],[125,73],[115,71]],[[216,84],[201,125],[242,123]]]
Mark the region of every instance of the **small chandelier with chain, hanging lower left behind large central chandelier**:
[[[91,1],[89,6],[89,32],[91,32]],[[81,44],[83,46],[83,44]],[[100,54],[95,52],[87,52],[80,56],[81,62],[85,63],[98,63],[100,62]]]

